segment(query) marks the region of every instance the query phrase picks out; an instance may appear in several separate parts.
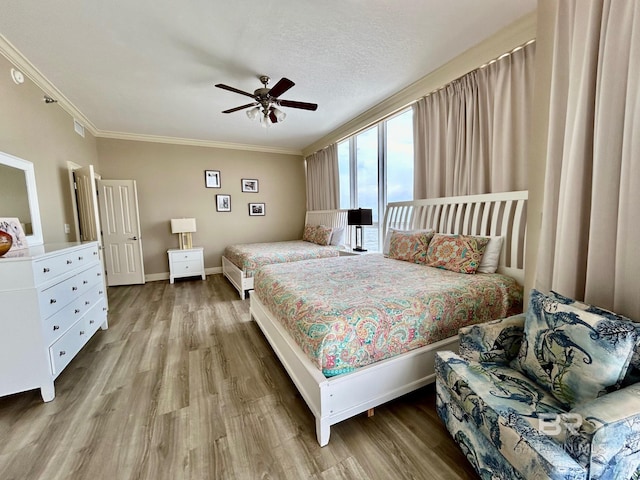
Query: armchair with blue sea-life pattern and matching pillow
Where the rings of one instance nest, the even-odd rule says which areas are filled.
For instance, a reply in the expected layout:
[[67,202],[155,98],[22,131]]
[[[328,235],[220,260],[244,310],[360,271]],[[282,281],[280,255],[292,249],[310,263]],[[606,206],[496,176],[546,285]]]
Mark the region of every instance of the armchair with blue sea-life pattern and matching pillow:
[[482,479],[640,480],[640,324],[552,292],[460,330],[438,415]]

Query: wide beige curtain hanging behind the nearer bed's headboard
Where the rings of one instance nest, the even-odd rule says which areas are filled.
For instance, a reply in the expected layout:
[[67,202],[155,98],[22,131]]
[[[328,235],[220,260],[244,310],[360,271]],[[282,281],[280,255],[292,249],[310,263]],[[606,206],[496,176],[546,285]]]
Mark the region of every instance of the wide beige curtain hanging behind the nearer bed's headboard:
[[414,196],[525,190],[535,44],[414,104]]

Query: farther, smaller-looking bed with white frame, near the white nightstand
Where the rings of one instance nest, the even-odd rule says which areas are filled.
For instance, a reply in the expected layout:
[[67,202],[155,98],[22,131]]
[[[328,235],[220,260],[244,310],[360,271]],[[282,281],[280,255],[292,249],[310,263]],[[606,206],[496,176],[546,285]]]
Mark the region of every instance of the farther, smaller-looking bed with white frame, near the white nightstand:
[[[325,242],[322,241],[316,243],[313,234],[309,239],[309,226],[330,229],[329,245],[323,245]],[[347,210],[310,210],[305,215],[303,240],[230,245],[222,255],[222,273],[244,300],[246,292],[253,290],[253,273],[258,267],[273,263],[337,257],[340,249],[350,244],[349,233]]]

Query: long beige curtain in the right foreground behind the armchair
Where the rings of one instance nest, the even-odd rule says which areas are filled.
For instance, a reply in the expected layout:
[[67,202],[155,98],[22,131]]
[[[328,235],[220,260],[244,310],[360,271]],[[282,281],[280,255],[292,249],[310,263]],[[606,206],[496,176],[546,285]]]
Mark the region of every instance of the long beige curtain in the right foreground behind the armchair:
[[640,320],[640,1],[562,0],[536,287]]

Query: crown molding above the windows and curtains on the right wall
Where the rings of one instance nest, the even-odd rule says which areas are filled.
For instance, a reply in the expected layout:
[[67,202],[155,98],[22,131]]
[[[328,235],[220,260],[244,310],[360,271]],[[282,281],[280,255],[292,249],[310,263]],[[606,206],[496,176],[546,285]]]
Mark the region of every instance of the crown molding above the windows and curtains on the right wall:
[[327,145],[355,135],[399,112],[420,98],[437,90],[468,72],[496,59],[505,52],[536,38],[537,12],[531,12],[507,25],[494,35],[469,48],[433,72],[383,100],[378,105],[363,112],[334,131],[302,149],[307,157]]

